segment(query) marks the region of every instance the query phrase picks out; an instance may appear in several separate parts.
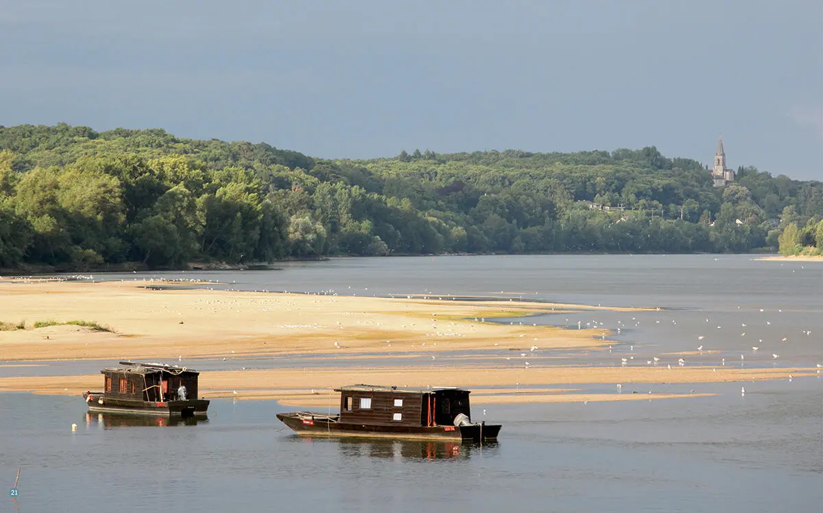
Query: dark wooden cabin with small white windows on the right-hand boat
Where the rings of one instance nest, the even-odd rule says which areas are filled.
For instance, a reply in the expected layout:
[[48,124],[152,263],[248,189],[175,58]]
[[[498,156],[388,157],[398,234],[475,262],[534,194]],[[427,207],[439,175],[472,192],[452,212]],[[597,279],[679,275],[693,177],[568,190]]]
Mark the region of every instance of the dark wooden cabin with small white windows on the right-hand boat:
[[471,422],[469,391],[451,387],[407,389],[352,385],[340,392],[340,423],[382,426],[454,426],[463,414]]

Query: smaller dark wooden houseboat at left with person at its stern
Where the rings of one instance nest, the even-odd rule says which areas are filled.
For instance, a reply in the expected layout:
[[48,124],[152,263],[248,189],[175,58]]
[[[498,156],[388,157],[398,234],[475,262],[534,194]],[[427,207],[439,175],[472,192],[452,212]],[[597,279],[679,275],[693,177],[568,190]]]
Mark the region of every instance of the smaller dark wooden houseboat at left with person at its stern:
[[199,372],[162,363],[120,365],[100,371],[104,391],[83,392],[89,411],[174,418],[206,415],[209,401],[198,399]]

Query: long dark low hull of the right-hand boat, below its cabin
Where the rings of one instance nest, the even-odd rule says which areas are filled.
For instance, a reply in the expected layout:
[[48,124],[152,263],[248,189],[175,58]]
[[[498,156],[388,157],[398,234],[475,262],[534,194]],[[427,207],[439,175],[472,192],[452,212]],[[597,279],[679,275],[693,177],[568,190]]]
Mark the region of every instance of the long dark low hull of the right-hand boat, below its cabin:
[[339,423],[335,417],[310,414],[277,414],[277,418],[298,435],[312,437],[405,438],[412,440],[487,441],[496,440],[500,424],[466,426],[384,426]]

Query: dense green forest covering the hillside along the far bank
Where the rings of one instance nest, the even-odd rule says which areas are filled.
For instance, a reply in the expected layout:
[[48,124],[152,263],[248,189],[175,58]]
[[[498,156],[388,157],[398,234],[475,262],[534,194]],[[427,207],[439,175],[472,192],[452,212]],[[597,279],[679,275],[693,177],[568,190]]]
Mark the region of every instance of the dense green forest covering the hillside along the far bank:
[[0,127],[6,269],[449,252],[749,252],[776,249],[790,225],[816,234],[809,227],[821,218],[821,182],[746,167],[716,188],[699,162],[669,159],[653,146],[403,150],[332,160],[160,129]]

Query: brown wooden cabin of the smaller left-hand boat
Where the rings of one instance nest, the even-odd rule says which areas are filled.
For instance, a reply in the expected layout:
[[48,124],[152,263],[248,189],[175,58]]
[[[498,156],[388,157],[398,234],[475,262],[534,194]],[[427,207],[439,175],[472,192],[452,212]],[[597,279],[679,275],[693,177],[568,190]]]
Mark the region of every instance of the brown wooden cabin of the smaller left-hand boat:
[[162,363],[120,362],[120,365],[123,367],[100,371],[108,398],[158,403],[198,398],[199,372]]

